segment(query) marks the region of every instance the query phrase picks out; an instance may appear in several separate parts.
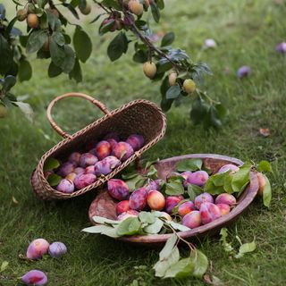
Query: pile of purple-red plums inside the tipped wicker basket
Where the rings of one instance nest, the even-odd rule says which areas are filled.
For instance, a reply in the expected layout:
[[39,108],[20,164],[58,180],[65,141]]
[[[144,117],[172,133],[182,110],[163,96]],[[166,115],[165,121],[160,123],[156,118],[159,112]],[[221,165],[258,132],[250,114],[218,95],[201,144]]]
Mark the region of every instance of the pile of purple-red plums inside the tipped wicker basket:
[[[97,181],[102,175],[113,172],[122,162],[144,146],[144,138],[133,134],[122,141],[116,133],[109,133],[98,143],[88,144],[88,152],[73,152],[67,162],[56,170],[63,178],[56,189],[63,193],[72,193]],[[51,172],[46,172],[47,178]]]

